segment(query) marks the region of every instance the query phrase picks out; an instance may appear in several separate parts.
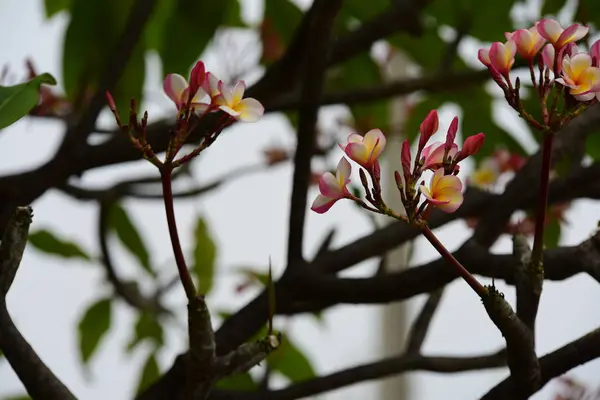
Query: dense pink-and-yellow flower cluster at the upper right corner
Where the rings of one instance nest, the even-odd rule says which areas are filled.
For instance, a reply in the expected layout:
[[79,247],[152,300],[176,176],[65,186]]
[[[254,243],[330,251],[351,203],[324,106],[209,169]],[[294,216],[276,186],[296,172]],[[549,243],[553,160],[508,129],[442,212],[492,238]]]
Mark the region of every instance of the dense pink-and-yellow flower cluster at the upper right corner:
[[[478,58],[502,88],[511,107],[530,124],[543,130],[555,123],[566,122],[572,117],[569,111],[578,106],[577,102],[600,100],[600,40],[590,47],[589,52],[581,51],[576,44],[587,33],[588,28],[579,24],[563,29],[557,21],[543,19],[528,29],[506,32],[505,43],[495,42],[488,49],[480,49]],[[529,66],[532,85],[542,105],[543,121],[535,121],[527,114],[519,99],[519,79],[514,85],[511,81],[510,71],[516,54]],[[555,83],[560,87],[553,91]],[[557,96],[562,92],[568,92],[568,96],[565,93],[564,113],[557,109]]]

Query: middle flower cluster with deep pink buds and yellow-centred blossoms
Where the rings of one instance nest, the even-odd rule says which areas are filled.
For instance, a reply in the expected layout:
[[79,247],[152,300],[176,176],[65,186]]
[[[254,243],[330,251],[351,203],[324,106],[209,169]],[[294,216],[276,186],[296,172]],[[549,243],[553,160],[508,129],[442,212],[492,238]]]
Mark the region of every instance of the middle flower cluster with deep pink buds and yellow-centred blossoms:
[[[433,110],[421,123],[414,162],[412,161],[410,142],[405,140],[402,144],[400,154],[402,173],[396,171],[395,179],[406,217],[391,210],[381,197],[378,158],[385,148],[386,138],[379,129],[372,129],[364,136],[351,134],[345,144],[340,144],[346,157],[362,167],[359,170],[360,178],[369,204],[348,190],[352,167],[343,157],[338,163],[335,174],[327,172],[321,177],[319,181],[320,194],[317,195],[311,209],[317,213],[324,213],[338,200],[351,199],[367,210],[411,223],[419,223],[426,219],[428,206],[437,207],[445,212],[456,211],[463,202],[462,182],[457,176],[458,163],[468,156],[476,154],[481,149],[485,136],[483,133],[469,136],[462,149],[459,150],[457,144],[454,143],[458,130],[458,118],[455,117],[448,128],[446,141],[428,145],[429,139],[437,132],[438,128],[438,114]],[[420,181],[425,171],[433,172],[429,185]],[[369,185],[367,175],[370,177],[372,187]]]

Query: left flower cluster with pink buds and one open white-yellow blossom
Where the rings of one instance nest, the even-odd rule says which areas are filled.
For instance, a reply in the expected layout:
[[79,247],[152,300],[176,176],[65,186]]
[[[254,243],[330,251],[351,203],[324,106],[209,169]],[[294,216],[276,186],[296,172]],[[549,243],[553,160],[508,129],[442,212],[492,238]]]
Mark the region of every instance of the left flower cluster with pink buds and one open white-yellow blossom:
[[207,72],[198,61],[190,73],[190,82],[179,74],[165,77],[163,88],[178,110],[193,109],[199,115],[221,110],[236,120],[255,122],[264,113],[264,107],[253,98],[244,99],[246,83],[239,81],[228,88],[212,72]]

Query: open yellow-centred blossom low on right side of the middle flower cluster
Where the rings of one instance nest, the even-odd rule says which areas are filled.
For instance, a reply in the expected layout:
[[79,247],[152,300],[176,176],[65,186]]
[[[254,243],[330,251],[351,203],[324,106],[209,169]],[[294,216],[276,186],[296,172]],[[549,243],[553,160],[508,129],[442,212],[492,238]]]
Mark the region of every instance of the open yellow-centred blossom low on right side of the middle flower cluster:
[[462,182],[455,175],[444,175],[443,168],[434,172],[429,187],[421,185],[419,189],[430,204],[447,213],[456,211],[463,202]]

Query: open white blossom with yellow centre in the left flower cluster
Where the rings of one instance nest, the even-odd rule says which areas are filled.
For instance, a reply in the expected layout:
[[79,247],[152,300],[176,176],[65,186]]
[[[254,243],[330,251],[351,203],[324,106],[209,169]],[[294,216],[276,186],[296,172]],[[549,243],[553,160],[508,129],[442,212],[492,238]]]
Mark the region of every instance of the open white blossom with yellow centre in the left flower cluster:
[[253,98],[243,99],[244,92],[246,91],[246,83],[244,81],[239,81],[233,90],[225,87],[223,82],[219,81],[218,89],[219,94],[216,95],[214,103],[219,106],[221,111],[226,112],[237,120],[255,122],[265,112],[264,107],[258,100]]

